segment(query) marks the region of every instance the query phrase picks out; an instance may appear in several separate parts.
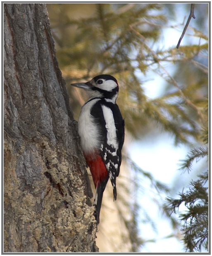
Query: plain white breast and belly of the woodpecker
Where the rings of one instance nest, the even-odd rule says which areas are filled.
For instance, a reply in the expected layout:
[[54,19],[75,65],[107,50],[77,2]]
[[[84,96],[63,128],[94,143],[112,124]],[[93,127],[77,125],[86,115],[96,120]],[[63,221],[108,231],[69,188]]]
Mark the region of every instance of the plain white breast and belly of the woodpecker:
[[91,115],[91,108],[100,99],[93,99],[85,103],[81,109],[78,120],[78,132],[81,138],[81,146],[85,154],[92,153],[100,148],[100,133],[94,118]]

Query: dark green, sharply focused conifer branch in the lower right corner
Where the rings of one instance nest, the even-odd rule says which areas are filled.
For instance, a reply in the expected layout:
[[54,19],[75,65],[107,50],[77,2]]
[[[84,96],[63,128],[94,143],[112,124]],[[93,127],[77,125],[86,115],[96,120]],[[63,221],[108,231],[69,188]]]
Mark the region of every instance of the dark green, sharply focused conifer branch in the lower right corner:
[[176,213],[181,204],[187,207],[185,213],[179,218],[183,222],[183,241],[186,250],[201,251],[202,246],[208,246],[208,188],[205,186],[208,180],[208,172],[199,176],[199,179],[190,183],[188,191],[180,193],[179,199],[167,198],[167,209]]

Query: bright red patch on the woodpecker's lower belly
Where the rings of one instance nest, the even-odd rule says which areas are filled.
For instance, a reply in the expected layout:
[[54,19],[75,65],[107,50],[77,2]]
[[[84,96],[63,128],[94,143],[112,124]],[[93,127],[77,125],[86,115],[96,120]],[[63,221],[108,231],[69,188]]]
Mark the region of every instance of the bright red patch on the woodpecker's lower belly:
[[93,183],[96,188],[98,183],[101,183],[103,180],[107,178],[108,171],[105,167],[105,163],[103,162],[101,156],[92,154],[92,155],[85,156],[85,158],[91,170]]

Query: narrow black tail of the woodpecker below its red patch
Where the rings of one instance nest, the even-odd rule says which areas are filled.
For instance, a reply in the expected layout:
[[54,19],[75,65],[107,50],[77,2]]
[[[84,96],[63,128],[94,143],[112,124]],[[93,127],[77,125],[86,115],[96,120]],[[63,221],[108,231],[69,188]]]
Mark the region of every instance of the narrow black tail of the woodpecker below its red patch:
[[95,211],[94,211],[93,215],[95,216],[97,224],[99,224],[99,221],[100,221],[99,215],[100,215],[100,209],[102,206],[102,197],[103,197],[103,192],[105,190],[108,178],[109,177],[107,177],[105,180],[103,180],[101,183],[99,183],[96,188],[95,199],[93,202],[93,204],[95,206]]

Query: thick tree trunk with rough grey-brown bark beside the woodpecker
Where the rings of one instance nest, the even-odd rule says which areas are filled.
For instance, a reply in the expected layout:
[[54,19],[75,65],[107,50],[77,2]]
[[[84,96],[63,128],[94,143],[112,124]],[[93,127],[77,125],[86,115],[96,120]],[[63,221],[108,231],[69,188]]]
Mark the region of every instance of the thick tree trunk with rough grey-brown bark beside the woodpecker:
[[4,4],[4,251],[96,252],[76,121],[45,4]]

